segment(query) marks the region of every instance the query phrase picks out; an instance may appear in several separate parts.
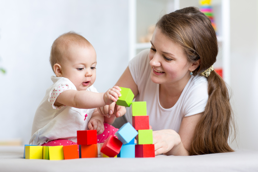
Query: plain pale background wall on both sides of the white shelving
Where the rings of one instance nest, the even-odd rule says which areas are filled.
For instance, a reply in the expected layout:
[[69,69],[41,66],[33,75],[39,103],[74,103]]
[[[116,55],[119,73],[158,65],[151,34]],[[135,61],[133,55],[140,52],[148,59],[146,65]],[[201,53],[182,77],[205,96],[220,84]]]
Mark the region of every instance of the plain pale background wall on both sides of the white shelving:
[[[231,0],[231,88],[239,149],[258,150],[258,1]],[[128,59],[128,0],[0,0],[0,140],[30,139],[34,112],[53,75],[60,34],[81,33],[97,52],[95,87],[112,87]],[[38,87],[37,90],[35,87]]]

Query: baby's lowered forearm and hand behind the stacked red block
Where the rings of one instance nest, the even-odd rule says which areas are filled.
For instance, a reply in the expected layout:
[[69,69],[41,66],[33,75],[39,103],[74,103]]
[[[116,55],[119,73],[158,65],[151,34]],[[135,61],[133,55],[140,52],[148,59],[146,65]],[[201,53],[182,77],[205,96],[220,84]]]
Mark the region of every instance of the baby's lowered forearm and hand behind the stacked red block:
[[95,109],[92,116],[91,116],[91,119],[89,120],[88,128],[90,130],[95,130],[96,129],[97,134],[101,134],[104,131],[103,122],[104,122],[104,116],[100,115],[98,110]]

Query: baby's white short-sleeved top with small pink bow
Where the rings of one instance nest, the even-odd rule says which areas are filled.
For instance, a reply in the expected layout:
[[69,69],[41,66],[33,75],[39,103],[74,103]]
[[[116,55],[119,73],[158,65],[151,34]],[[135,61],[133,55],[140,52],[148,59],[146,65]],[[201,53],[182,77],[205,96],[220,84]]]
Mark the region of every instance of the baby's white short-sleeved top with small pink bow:
[[[69,139],[77,142],[77,130],[87,130],[94,112],[92,109],[78,109],[62,105],[56,107],[57,96],[68,89],[76,90],[75,85],[65,77],[51,76],[51,85],[38,106],[32,125],[30,145],[42,145],[55,139]],[[87,91],[97,92],[90,86]]]

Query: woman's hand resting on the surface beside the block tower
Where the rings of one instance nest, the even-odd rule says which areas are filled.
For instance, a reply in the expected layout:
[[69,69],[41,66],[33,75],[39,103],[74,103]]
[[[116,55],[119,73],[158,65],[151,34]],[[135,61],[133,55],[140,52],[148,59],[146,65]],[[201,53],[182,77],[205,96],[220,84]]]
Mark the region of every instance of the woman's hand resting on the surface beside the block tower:
[[188,155],[179,134],[172,129],[153,131],[153,144],[155,155]]

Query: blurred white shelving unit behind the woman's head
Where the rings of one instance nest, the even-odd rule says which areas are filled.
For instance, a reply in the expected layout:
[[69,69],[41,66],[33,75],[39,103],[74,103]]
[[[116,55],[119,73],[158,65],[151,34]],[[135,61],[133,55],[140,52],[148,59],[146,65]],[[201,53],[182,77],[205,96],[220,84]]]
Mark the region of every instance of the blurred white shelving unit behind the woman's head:
[[[230,85],[230,0],[211,0],[217,26],[219,53],[214,68],[222,68],[223,78]],[[151,47],[140,43],[147,28],[169,12],[188,6],[200,7],[199,0],[129,0],[129,59]]]

